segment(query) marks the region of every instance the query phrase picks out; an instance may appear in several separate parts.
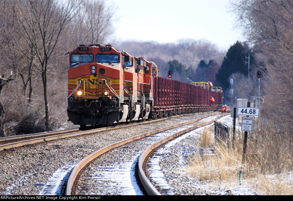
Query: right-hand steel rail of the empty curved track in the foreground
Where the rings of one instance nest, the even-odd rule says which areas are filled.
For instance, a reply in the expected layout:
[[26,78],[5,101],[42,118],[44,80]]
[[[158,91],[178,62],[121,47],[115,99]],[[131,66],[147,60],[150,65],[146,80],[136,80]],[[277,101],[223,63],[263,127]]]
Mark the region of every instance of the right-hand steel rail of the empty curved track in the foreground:
[[144,186],[144,189],[147,191],[147,193],[149,195],[161,195],[161,193],[159,193],[159,191],[151,184],[151,182],[149,181],[149,179],[147,178],[147,176],[145,175],[144,173],[144,170],[143,170],[143,164],[144,162],[146,161],[146,158],[148,157],[148,155],[154,150],[156,149],[157,147],[161,146],[162,144],[168,142],[168,141],[171,141],[173,140],[174,138],[177,138],[178,136],[180,135],[183,135],[185,133],[188,133],[192,130],[195,130],[197,128],[200,128],[202,126],[206,126],[208,124],[211,124],[213,123],[215,120],[217,120],[218,118],[221,118],[222,116],[226,116],[226,114],[221,114],[219,117],[217,118],[214,118],[213,120],[211,121],[208,121],[208,122],[205,122],[205,123],[202,123],[202,124],[199,124],[199,125],[196,125],[196,126],[192,126],[190,128],[187,128],[185,130],[182,130],[178,133],[175,133],[173,135],[170,135],[166,138],[164,138],[163,140],[160,140],[158,142],[155,142],[154,144],[152,144],[151,146],[149,146],[146,150],[144,150],[142,152],[142,154],[140,155],[139,157],[139,160],[138,160],[138,174],[139,174],[139,179],[140,181],[142,182],[142,185]]

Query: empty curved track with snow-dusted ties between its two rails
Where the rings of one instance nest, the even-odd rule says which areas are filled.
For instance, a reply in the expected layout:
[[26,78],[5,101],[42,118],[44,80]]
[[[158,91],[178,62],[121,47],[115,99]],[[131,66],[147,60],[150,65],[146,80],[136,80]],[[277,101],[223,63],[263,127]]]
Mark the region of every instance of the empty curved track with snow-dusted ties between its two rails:
[[[211,116],[211,114],[203,116],[201,118],[197,118],[197,119],[192,120],[192,121],[180,123],[180,124],[173,125],[173,126],[167,126],[165,128],[160,128],[160,129],[157,129],[157,130],[154,130],[154,131],[143,133],[141,135],[137,135],[137,136],[134,136],[132,138],[128,138],[128,139],[122,140],[120,142],[116,142],[114,144],[108,145],[108,146],[103,147],[100,150],[88,155],[81,162],[79,162],[79,164],[77,164],[75,166],[75,168],[73,169],[73,171],[72,171],[72,173],[71,173],[71,175],[69,177],[68,183],[67,183],[66,195],[86,194],[86,193],[96,192],[96,191],[98,191],[97,192],[98,195],[99,194],[100,195],[101,194],[115,195],[115,193],[113,193],[113,192],[103,191],[103,190],[106,189],[106,187],[104,186],[105,184],[102,184],[100,182],[103,182],[103,180],[107,180],[107,179],[101,178],[101,176],[100,176],[102,174],[101,172],[109,172],[110,171],[111,174],[113,174],[113,172],[115,172],[116,169],[119,172],[120,171],[119,169],[128,169],[129,167],[126,167],[124,165],[117,166],[117,164],[112,164],[112,165],[108,165],[108,166],[107,165],[98,166],[97,164],[99,164],[99,162],[107,162],[107,159],[112,158],[112,157],[117,157],[118,159],[122,158],[122,160],[123,160],[126,157],[125,155],[127,155],[125,152],[126,152],[126,148],[128,148],[128,147],[132,147],[132,150],[130,150],[130,152],[134,152],[133,153],[134,156],[132,156],[132,157],[134,157],[133,161],[135,161],[135,158],[137,158],[137,160],[138,160],[138,155],[139,154],[138,154],[138,152],[136,153],[136,151],[134,151],[134,150],[140,149],[140,148],[139,148],[139,146],[138,146],[138,148],[134,148],[134,147],[136,147],[134,141],[135,140],[139,141],[139,139],[145,138],[145,137],[150,136],[150,135],[152,136],[151,138],[153,138],[152,140],[153,141],[155,140],[156,142],[154,142],[147,150],[145,150],[141,154],[141,156],[139,158],[139,161],[138,161],[138,169],[139,169],[138,174],[139,174],[139,178],[141,179],[141,183],[143,184],[144,189],[146,190],[146,194],[159,195],[159,192],[154,188],[153,185],[151,185],[151,183],[149,182],[148,178],[145,176],[145,173],[144,173],[143,166],[145,166],[145,164],[147,162],[147,156],[149,155],[149,153],[153,149],[156,149],[158,146],[162,145],[163,143],[165,143],[165,142],[167,142],[169,140],[172,140],[173,138],[176,138],[179,135],[187,133],[190,130],[194,130],[194,129],[198,128],[198,127],[210,124],[215,119],[219,118],[222,115],[218,115],[217,118],[213,118],[212,120],[209,120],[208,122],[205,122],[205,123],[201,123],[200,125],[189,126],[189,128],[186,128],[186,129],[181,128],[179,132],[176,131],[174,133],[174,131],[172,131],[173,132],[172,135],[170,135],[168,133],[165,133],[164,135],[166,137],[162,137],[162,136],[164,136],[163,135],[164,131],[167,131],[167,130],[170,130],[170,129],[175,129],[175,128],[182,127],[182,126],[186,126],[187,124],[195,123],[195,122],[197,122],[197,121],[199,121],[201,119],[207,118],[208,116]],[[160,137],[159,136],[154,136],[154,134],[156,134],[156,133],[160,133],[161,136]],[[158,140],[157,139],[158,137],[161,138],[161,139]],[[129,143],[129,145],[127,145],[127,143]],[[141,143],[145,147],[145,142],[142,141]],[[109,154],[109,152],[117,152],[117,153],[120,153],[120,155],[118,154],[118,156],[112,156],[111,154]],[[132,162],[130,165],[133,167],[134,162]],[[91,170],[93,170],[93,171],[91,171]],[[90,172],[92,172],[92,173],[90,173]],[[118,174],[120,174],[120,173],[118,173]],[[124,176],[122,175],[121,177],[123,178]],[[130,179],[133,179],[133,175],[130,176],[130,177],[132,177]],[[92,181],[87,181],[88,179],[92,179],[92,178],[94,178]],[[95,179],[95,178],[98,178],[98,179]],[[108,178],[108,180],[111,180],[111,179]],[[119,180],[119,181],[120,181],[120,183],[123,183],[121,180]],[[90,183],[93,186],[96,186],[99,189],[98,190],[97,189],[89,190],[90,187],[87,186],[88,183]],[[109,183],[109,185],[110,185],[111,182],[108,181],[108,182],[105,182],[105,183]],[[115,182],[114,182],[114,184],[115,184]],[[114,184],[111,184],[111,185],[113,186]],[[128,191],[125,191],[126,187],[119,187],[119,185],[120,185],[119,182],[114,185],[115,188],[118,189],[117,192],[120,192],[120,193],[116,192],[117,193],[116,195],[123,195],[122,192],[124,192],[124,193],[128,192]],[[136,193],[140,192],[140,190],[137,190],[137,188],[134,188],[134,187],[133,188],[132,187],[127,188],[127,189],[128,190],[130,189],[131,192],[126,193],[125,195],[130,195],[134,191]],[[136,193],[134,193],[134,194],[136,194]]]

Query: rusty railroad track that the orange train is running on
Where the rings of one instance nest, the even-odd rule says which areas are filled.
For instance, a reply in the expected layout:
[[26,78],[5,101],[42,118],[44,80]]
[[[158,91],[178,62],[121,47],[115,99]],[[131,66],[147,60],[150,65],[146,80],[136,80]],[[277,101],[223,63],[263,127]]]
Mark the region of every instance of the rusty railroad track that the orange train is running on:
[[[169,118],[174,118],[177,116],[184,116],[186,114],[180,114],[176,116],[170,116],[155,120],[149,120],[149,121],[141,121],[141,122],[135,122],[135,123],[127,123],[127,124],[120,124],[117,126],[110,126],[110,127],[103,127],[103,128],[96,128],[91,130],[79,130],[79,128],[71,129],[71,130],[58,130],[58,131],[50,131],[50,132],[44,132],[44,133],[35,133],[35,134],[28,134],[28,135],[18,135],[18,136],[11,136],[11,137],[5,137],[0,138],[0,144],[1,142],[3,144],[0,145],[0,151],[4,149],[9,149],[13,147],[19,147],[23,145],[30,145],[38,142],[48,142],[50,140],[56,140],[61,138],[69,138],[74,137],[77,135],[84,135],[84,134],[90,134],[90,133],[96,133],[104,130],[111,130],[116,128],[123,128],[127,126],[135,126],[143,123],[151,123],[156,121],[163,121]],[[91,127],[88,127],[91,128]],[[8,143],[7,143],[8,142]]]

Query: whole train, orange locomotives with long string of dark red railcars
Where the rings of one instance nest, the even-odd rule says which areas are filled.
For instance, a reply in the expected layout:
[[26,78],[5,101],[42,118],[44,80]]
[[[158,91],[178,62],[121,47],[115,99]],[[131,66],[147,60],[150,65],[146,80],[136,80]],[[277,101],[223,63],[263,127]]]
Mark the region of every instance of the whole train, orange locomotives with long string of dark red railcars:
[[80,45],[68,54],[69,120],[84,127],[221,109],[222,91],[160,78],[158,72],[154,62],[110,44]]

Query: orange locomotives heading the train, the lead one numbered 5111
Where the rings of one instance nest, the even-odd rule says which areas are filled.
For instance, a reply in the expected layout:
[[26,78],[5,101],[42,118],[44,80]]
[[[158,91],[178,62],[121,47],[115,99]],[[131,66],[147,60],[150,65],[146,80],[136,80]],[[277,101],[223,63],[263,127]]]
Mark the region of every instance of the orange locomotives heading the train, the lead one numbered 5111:
[[69,52],[69,120],[83,127],[148,118],[151,66],[111,45],[80,45]]

